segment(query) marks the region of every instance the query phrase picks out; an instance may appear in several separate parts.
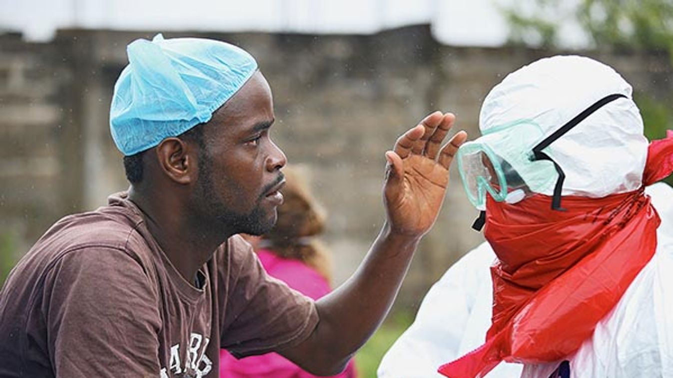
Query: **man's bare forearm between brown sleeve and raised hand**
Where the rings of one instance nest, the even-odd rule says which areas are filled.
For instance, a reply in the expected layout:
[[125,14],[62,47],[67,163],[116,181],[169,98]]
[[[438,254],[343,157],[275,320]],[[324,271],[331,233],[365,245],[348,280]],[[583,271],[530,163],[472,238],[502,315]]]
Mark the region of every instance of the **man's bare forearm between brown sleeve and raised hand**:
[[[353,276],[316,302],[320,322],[301,346],[310,352],[296,353],[306,361],[295,362],[316,373],[343,369],[390,310],[419,240],[396,235],[385,224]],[[287,357],[294,360],[292,354]]]

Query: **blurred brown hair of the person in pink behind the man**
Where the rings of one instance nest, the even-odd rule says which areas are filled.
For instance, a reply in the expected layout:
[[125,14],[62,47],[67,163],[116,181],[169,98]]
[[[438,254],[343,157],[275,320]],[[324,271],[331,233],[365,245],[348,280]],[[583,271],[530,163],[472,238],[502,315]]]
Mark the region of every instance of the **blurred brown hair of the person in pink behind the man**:
[[274,228],[262,236],[260,247],[283,258],[303,261],[331,281],[330,254],[326,246],[314,238],[325,226],[325,212],[311,195],[298,169],[285,167],[286,184],[281,193],[285,201],[278,207]]

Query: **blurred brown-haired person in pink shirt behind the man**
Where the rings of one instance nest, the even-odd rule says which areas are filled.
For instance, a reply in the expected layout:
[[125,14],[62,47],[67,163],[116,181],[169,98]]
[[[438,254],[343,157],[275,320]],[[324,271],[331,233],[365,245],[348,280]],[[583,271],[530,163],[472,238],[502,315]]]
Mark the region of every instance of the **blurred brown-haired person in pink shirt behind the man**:
[[[278,207],[276,226],[264,236],[244,236],[271,277],[292,289],[318,299],[329,293],[330,255],[324,244],[314,236],[324,230],[322,207],[308,191],[299,171],[283,169],[287,184],[281,192],[285,201]],[[220,351],[221,378],[311,378],[285,357],[272,352],[237,360],[226,350]],[[338,378],[355,378],[355,364],[351,361]]]

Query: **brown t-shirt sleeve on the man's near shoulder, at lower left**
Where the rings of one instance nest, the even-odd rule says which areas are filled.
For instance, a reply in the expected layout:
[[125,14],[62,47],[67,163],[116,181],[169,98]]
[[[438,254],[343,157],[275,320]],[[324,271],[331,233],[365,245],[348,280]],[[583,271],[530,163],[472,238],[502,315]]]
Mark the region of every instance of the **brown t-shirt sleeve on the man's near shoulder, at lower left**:
[[157,294],[125,251],[66,252],[45,277],[43,313],[56,377],[155,377]]

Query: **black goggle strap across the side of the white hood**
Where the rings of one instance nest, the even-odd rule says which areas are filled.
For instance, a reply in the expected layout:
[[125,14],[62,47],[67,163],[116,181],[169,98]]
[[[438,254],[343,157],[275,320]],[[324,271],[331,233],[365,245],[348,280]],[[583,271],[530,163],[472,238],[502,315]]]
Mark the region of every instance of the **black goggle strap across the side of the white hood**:
[[565,173],[563,173],[563,169],[561,169],[561,166],[559,166],[559,164],[557,164],[557,162],[555,162],[547,154],[542,152],[542,150],[544,150],[544,148],[547,148],[555,140],[561,138],[563,134],[569,132],[572,128],[577,126],[579,122],[582,122],[586,117],[594,113],[594,111],[600,109],[600,107],[606,105],[607,103],[610,103],[621,97],[627,98],[625,95],[622,95],[620,93],[614,93],[612,95],[603,97],[602,99],[596,101],[594,105],[591,105],[590,107],[584,109],[578,115],[575,115],[575,117],[573,117],[572,120],[567,122],[565,125],[561,126],[559,130],[556,130],[553,134],[544,138],[542,142],[538,143],[536,146],[533,147],[533,156],[531,160],[532,161],[549,160],[554,163],[554,168],[556,169],[557,173],[559,173],[559,179],[557,179],[556,181],[556,186],[554,187],[554,197],[551,202],[551,208],[553,210],[565,211],[565,209],[561,207],[561,189],[563,189],[563,181],[565,180]]

